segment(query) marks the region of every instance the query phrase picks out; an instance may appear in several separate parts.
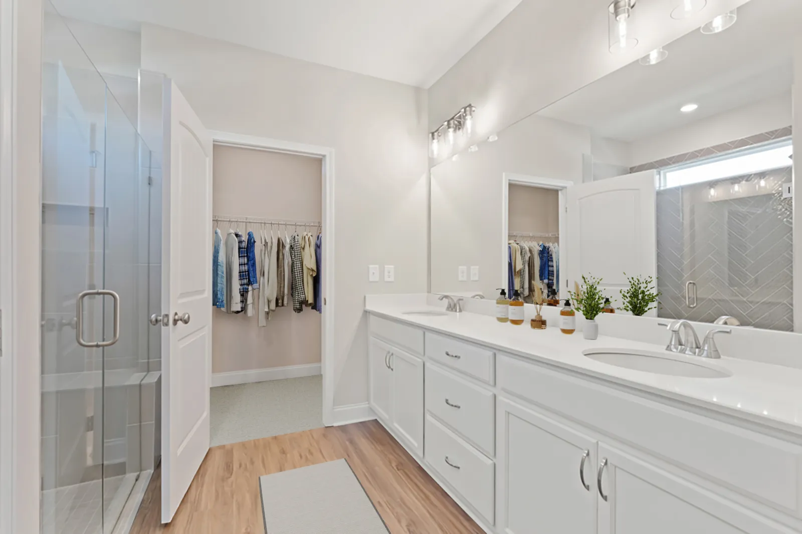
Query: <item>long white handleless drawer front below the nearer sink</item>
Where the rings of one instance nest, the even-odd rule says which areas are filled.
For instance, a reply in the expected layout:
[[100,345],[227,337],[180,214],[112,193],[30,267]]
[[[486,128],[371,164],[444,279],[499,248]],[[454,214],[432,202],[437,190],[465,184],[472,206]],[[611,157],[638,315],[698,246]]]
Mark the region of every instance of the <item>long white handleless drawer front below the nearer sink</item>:
[[501,391],[802,517],[802,447],[537,363],[499,355]]

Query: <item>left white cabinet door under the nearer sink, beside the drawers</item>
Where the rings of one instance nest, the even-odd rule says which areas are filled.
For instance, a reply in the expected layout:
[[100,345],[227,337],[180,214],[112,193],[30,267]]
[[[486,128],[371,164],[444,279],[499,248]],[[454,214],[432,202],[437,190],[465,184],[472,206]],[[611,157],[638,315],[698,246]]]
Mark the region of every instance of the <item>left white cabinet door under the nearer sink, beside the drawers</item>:
[[597,442],[506,399],[498,404],[499,532],[596,532]]

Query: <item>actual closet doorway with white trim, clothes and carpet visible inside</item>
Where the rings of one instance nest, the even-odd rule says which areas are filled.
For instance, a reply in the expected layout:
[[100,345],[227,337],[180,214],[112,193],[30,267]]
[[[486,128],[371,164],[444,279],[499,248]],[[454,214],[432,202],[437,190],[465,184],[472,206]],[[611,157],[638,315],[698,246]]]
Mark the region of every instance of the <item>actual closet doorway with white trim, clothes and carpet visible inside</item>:
[[[253,243],[256,283],[244,283],[250,291],[239,295],[241,312],[232,291],[213,302],[211,446],[326,426],[333,405],[334,153],[212,135],[213,239],[219,231],[221,258],[227,239],[242,236],[249,257]],[[230,276],[224,279],[229,286]]]

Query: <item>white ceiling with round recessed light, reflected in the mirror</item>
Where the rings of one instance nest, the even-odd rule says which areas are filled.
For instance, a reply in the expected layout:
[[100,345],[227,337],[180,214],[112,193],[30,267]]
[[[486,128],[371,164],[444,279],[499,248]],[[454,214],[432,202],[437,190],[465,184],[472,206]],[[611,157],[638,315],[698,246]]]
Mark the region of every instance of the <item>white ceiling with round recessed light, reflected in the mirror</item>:
[[[665,61],[630,63],[539,114],[632,142],[788,92],[797,2],[751,0],[723,33],[693,31],[665,47]],[[681,113],[679,108],[690,102],[699,109]]]

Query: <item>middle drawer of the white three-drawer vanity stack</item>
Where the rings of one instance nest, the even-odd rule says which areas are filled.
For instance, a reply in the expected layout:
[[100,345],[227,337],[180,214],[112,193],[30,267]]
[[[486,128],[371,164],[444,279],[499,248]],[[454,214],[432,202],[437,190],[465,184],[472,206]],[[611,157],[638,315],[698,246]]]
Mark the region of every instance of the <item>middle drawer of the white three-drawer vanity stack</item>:
[[495,454],[496,395],[427,364],[426,409],[489,455]]

